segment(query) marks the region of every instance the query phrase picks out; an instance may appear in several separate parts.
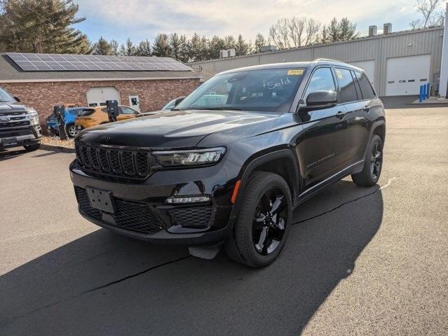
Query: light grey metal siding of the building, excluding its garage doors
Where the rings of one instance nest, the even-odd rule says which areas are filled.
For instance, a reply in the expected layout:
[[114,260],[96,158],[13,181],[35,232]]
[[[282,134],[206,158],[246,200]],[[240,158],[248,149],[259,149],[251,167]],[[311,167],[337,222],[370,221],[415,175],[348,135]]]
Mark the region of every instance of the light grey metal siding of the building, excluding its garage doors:
[[[369,72],[370,80],[374,80],[376,91],[386,94],[386,64],[393,57],[430,55],[428,79],[433,80],[433,73],[440,71],[442,62],[443,27],[414,31],[402,31],[388,35],[360,38],[353,41],[313,45],[305,48],[264,52],[256,55],[214,59],[201,64],[204,69],[214,69],[212,73],[236,69],[242,66],[269,64],[279,62],[311,61],[316,58],[339,59],[343,62],[374,62],[374,75]],[[371,66],[371,65],[370,65]],[[362,67],[362,66],[360,66]],[[210,73],[210,72],[209,72]],[[211,73],[210,73],[211,74]]]

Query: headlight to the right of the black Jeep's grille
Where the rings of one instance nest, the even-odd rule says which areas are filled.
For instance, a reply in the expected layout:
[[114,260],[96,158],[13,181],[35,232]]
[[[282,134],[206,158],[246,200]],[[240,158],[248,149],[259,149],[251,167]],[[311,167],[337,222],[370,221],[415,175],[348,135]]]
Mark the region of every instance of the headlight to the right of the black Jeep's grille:
[[226,148],[207,148],[191,151],[156,151],[152,154],[163,167],[210,165],[221,160]]

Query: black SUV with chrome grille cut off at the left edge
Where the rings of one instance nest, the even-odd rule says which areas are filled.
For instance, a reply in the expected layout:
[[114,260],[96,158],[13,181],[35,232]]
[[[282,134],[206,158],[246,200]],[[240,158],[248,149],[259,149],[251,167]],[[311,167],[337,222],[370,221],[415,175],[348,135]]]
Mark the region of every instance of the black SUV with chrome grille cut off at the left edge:
[[41,137],[36,110],[20,104],[20,99],[0,87],[0,150],[23,146],[27,151],[36,151]]

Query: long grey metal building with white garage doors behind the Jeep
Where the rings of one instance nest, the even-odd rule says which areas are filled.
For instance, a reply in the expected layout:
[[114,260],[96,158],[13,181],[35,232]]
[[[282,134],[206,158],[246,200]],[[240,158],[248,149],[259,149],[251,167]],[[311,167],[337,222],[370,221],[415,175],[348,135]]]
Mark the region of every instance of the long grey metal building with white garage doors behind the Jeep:
[[[442,58],[444,64],[448,63],[448,46],[442,57],[443,40],[447,38],[444,27],[392,32],[391,24],[386,24],[383,31],[386,34],[376,34],[376,26],[371,26],[369,36],[351,41],[211,59],[190,65],[206,79],[242,66],[330,58],[364,69],[381,96],[419,94],[423,83],[430,83],[432,93],[438,93]],[[446,66],[448,68],[448,64]]]

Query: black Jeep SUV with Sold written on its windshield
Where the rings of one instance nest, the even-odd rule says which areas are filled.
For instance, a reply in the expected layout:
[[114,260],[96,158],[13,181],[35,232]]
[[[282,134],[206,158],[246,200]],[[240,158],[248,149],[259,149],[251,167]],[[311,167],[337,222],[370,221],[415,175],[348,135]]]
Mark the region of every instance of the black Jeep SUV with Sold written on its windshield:
[[361,69],[267,64],[219,73],[172,111],[81,132],[70,170],[89,221],[196,255],[224,242],[233,260],[262,267],[294,207],[348,175],[374,186],[384,135]]

